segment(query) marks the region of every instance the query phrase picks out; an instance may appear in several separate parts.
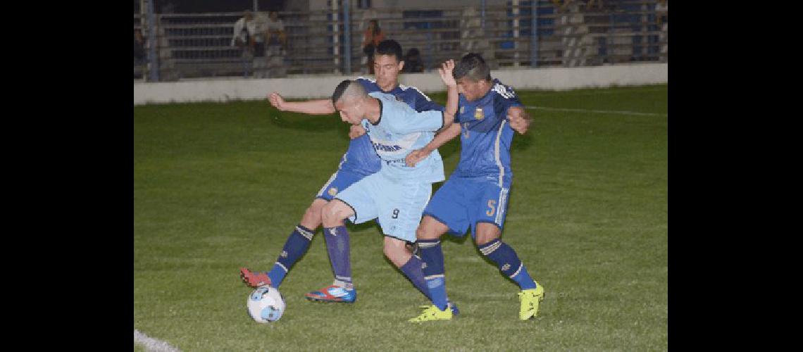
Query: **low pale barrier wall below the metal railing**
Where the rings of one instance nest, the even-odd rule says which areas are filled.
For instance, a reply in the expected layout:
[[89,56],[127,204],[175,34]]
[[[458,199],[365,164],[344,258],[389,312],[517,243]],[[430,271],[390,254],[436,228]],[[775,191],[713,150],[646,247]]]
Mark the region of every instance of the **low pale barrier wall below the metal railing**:
[[[516,90],[565,91],[580,88],[641,86],[668,83],[668,63],[637,63],[597,67],[556,67],[491,71],[491,76]],[[310,75],[281,79],[198,79],[180,82],[134,82],[134,105],[149,103],[226,102],[266,99],[278,91],[287,99],[332,96],[337,83],[355,75]],[[365,77],[373,78],[371,75]],[[402,84],[426,93],[445,91],[437,72],[399,76]]]

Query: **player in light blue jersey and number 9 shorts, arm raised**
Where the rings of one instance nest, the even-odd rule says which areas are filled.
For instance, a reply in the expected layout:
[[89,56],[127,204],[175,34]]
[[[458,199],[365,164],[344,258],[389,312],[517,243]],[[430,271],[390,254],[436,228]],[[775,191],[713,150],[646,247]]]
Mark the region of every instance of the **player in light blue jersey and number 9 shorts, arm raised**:
[[[444,111],[415,111],[393,95],[368,93],[354,80],[341,82],[332,94],[340,119],[353,125],[361,124],[367,131],[381,159],[381,169],[339,192],[324,205],[324,238],[338,282],[334,287],[324,288],[322,293],[357,297],[351,273],[346,219],[354,224],[377,219],[385,235],[385,256],[399,268],[414,261],[417,269],[422,269],[421,261],[405,244],[415,241],[415,229],[432,194],[432,184],[444,180],[443,162],[438,151],[422,158],[413,167],[406,164],[405,158],[414,149],[428,144],[436,131],[448,128],[454,122],[458,92],[451,74],[453,67],[454,61],[448,61],[439,70],[447,87]],[[405,270],[402,272],[407,275]],[[452,309],[449,311],[451,314]]]

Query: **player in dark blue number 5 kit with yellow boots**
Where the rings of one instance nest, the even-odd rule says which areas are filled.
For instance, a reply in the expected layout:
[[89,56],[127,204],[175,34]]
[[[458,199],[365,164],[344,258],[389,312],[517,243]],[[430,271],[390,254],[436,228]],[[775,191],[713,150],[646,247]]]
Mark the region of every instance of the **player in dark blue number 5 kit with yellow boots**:
[[469,228],[480,253],[520,286],[519,318],[527,320],[538,313],[544,288],[532,280],[516,251],[501,241],[500,236],[513,179],[510,158],[513,131],[527,131],[530,117],[511,87],[491,79],[482,56],[473,53],[463,56],[453,73],[459,90],[454,123],[406,158],[407,164],[414,165],[446,141],[460,136],[457,168],[427,204],[416,231],[433,305],[410,322],[452,318],[451,310],[446,309],[449,302],[440,237],[446,232],[465,236]]

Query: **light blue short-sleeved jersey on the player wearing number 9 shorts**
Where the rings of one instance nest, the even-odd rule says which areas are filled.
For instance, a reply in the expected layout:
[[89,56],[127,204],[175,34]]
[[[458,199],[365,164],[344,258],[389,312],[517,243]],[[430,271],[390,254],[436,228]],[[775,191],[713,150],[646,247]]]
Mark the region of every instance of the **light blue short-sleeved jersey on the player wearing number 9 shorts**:
[[405,162],[410,152],[424,148],[434,138],[435,131],[443,127],[443,112],[418,112],[393,95],[380,92],[369,95],[379,99],[379,120],[370,123],[368,119],[363,119],[362,127],[365,127],[382,161],[380,172],[393,180],[427,183],[444,180],[443,161],[438,150],[414,167],[407,166]]

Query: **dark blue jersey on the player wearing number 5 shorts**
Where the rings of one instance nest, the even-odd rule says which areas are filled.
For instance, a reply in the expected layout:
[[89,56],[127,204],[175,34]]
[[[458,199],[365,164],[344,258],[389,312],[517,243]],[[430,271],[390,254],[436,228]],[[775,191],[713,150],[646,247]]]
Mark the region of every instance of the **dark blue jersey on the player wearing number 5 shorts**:
[[510,187],[510,144],[513,129],[507,121],[509,107],[522,106],[516,92],[493,80],[482,98],[467,101],[461,94],[454,123],[460,123],[460,161],[452,176],[487,180]]

